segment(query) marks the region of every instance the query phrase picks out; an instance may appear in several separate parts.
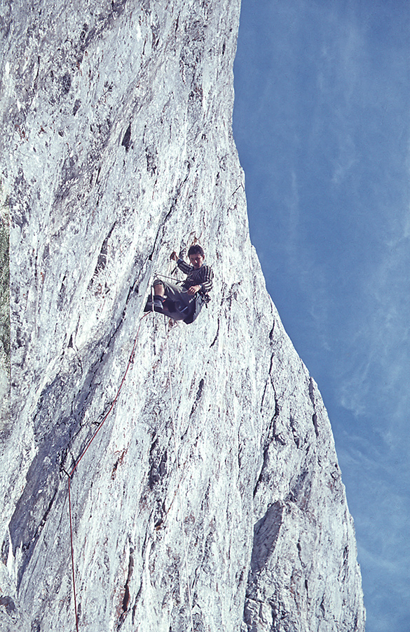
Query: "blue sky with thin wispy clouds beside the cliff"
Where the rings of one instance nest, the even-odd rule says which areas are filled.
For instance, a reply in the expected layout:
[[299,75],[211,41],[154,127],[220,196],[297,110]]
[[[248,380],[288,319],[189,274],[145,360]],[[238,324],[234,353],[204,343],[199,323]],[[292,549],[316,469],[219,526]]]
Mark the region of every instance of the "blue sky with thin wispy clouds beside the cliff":
[[409,632],[410,3],[242,0],[234,70],[251,238],[329,411],[367,632]]

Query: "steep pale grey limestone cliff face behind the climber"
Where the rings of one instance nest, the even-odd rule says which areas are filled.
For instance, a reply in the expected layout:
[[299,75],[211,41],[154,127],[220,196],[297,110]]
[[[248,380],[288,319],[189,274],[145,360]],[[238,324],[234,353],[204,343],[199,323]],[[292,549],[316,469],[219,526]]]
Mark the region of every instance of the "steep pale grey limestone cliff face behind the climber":
[[[2,4],[1,630],[76,628],[67,473],[100,428],[71,477],[79,630],[364,631],[332,430],[250,244],[239,10]],[[154,273],[195,240],[209,308],[143,318]]]

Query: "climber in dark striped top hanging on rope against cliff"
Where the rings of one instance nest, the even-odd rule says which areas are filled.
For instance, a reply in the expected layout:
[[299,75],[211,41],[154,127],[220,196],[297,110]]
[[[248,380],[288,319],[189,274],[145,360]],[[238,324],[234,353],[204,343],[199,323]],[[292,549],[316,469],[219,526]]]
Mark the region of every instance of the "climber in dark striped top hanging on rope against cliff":
[[179,256],[175,251],[171,254],[179,270],[187,275],[184,282],[177,285],[155,279],[153,303],[150,297],[144,311],[153,309],[169,316],[172,320],[183,320],[189,324],[196,319],[203,305],[210,301],[208,292],[212,289],[214,273],[209,265],[204,265],[205,253],[199,244],[193,244],[188,251],[191,265],[184,261],[184,255],[184,250],[179,253]]

